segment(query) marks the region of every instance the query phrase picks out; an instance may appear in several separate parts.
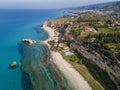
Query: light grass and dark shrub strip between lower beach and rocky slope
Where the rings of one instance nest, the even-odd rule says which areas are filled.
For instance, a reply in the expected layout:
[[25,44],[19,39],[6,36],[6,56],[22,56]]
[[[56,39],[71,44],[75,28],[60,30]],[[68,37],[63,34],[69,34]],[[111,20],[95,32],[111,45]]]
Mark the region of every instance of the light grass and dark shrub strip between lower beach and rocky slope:
[[108,74],[97,65],[90,62],[82,63],[82,58],[77,55],[62,55],[88,81],[93,90],[117,90]]

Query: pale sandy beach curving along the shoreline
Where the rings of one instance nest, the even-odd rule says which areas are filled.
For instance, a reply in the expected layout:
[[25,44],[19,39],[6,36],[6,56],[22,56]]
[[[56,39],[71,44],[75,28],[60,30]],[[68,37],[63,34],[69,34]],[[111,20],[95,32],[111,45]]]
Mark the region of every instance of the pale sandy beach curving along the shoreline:
[[[44,41],[45,44],[49,45],[47,41],[51,40],[54,37],[54,30],[46,25],[46,22],[43,25],[43,29],[49,33],[49,39]],[[49,45],[50,46],[50,45]],[[83,76],[76,71],[71,64],[63,59],[62,55],[59,52],[51,51],[53,62],[59,68],[59,70],[65,75],[66,79],[73,85],[75,90],[92,90],[87,81]]]

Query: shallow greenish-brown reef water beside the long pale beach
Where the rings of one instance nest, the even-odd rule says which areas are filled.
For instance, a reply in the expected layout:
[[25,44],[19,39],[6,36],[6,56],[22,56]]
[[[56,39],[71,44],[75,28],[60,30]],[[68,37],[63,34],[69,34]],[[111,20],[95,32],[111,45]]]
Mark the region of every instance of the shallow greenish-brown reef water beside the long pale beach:
[[27,85],[32,84],[30,90],[74,90],[64,75],[52,62],[49,49],[44,44],[32,46],[19,45],[22,54],[21,70],[27,75],[22,79],[30,79],[29,82],[22,80],[23,90]]

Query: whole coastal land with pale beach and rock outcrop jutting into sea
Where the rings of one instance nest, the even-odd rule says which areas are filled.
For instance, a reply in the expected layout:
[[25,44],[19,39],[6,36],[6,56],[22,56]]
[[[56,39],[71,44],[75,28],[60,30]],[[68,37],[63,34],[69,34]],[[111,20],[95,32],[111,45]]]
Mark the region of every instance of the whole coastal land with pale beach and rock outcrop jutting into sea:
[[[119,16],[115,18],[111,13],[79,11],[77,16],[63,16],[48,20],[42,25],[49,34],[43,43],[49,47],[53,62],[75,90],[119,88],[119,52],[114,53],[112,47],[119,49],[114,43],[119,43],[120,20],[117,19]],[[116,42],[113,35],[117,36]],[[29,46],[41,43],[31,39],[23,39],[22,42]]]

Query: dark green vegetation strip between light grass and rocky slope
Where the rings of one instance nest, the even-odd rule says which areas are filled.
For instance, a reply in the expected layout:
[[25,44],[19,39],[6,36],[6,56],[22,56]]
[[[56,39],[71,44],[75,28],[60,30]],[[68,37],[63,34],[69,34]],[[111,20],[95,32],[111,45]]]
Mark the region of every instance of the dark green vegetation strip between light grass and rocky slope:
[[95,78],[95,80],[100,82],[100,84],[105,88],[105,90],[117,90],[115,84],[104,70],[100,69],[95,64],[86,64],[86,67],[88,68],[92,76]]

